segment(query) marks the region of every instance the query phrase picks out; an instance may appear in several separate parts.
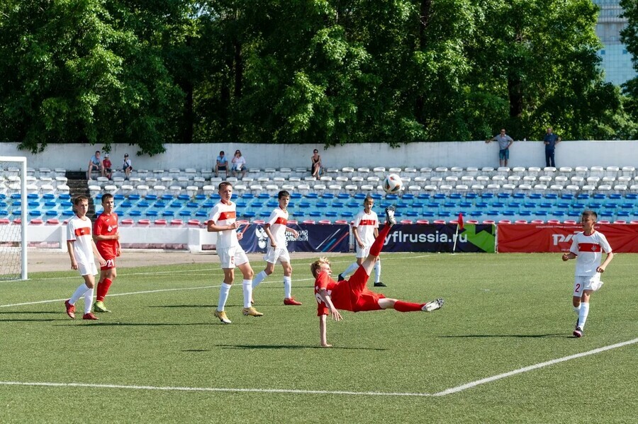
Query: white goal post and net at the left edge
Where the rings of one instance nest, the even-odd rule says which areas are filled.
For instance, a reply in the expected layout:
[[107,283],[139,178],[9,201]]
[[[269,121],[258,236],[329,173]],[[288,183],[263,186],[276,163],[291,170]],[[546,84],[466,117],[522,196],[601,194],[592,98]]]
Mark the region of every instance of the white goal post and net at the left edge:
[[0,280],[27,279],[26,158],[0,156]]

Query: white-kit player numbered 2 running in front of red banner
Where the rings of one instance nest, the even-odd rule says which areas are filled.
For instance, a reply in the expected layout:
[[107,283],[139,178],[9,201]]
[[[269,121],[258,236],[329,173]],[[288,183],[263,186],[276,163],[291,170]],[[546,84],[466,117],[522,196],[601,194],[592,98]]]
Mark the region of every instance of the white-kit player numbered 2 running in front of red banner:
[[[603,282],[600,281],[600,274],[605,272],[605,268],[614,258],[612,248],[607,238],[595,231],[594,225],[598,215],[592,210],[586,210],[581,215],[583,232],[573,236],[569,253],[562,256],[564,261],[576,258],[576,277],[573,282],[573,311],[578,314],[576,328],[573,330],[574,337],[583,337],[585,321],[589,314],[589,298],[591,294],[600,289]],[[607,253],[607,258],[601,264],[603,252]]]

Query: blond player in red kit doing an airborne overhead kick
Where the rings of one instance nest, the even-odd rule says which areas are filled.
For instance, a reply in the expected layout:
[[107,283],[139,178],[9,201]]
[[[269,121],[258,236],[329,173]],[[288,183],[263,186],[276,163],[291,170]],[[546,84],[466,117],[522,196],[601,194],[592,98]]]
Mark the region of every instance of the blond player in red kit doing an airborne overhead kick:
[[319,316],[320,344],[325,348],[330,348],[326,336],[326,319],[330,314],[335,321],[343,318],[339,309],[352,312],[379,311],[381,309],[396,309],[400,312],[411,311],[435,311],[443,306],[443,299],[436,299],[423,304],[403,302],[402,300],[389,299],[381,293],[371,292],[366,288],[366,282],[370,273],[374,269],[374,263],[379,260],[379,253],[384,246],[386,236],[391,227],[396,224],[394,217],[394,207],[386,207],[386,225],[379,236],[376,237],[370,253],[359,268],[354,271],[349,280],[336,282],[332,280],[332,270],[330,261],[327,258],[319,258],[310,265],[310,272],[315,277],[315,297],[317,299],[317,316]]

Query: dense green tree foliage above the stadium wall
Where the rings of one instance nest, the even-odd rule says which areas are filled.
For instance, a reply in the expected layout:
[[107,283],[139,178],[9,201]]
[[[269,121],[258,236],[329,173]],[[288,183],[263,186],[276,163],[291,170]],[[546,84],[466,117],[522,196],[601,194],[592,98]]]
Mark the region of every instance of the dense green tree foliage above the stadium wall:
[[503,126],[621,137],[638,83],[625,99],[603,82],[596,13],[590,0],[5,0],[0,137],[147,154],[483,139]]

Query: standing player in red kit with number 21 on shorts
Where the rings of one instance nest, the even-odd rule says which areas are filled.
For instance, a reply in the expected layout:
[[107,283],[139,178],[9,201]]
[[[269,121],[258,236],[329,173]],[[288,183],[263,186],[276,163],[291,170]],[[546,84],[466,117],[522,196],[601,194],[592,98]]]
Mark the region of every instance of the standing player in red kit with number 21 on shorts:
[[108,288],[118,276],[116,271],[116,257],[122,254],[120,248],[120,233],[118,232],[118,214],[113,212],[115,201],[111,193],[102,196],[103,211],[95,220],[93,235],[100,255],[106,260],[106,265],[100,268],[100,280],[97,286],[97,296],[93,304],[94,312],[111,312],[104,306],[104,298]]

